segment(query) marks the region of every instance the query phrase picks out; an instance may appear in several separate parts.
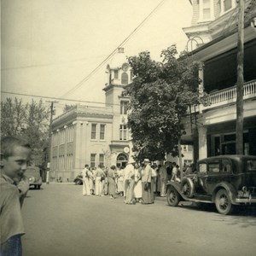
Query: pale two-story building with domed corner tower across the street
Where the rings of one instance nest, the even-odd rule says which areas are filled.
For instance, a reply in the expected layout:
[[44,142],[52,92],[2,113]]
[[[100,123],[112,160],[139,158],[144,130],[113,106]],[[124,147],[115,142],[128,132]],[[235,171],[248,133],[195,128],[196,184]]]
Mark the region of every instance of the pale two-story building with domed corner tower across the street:
[[105,107],[77,105],[52,123],[51,179],[73,180],[85,164],[91,167],[125,166],[131,157],[127,127],[129,98],[124,86],[131,83],[131,67],[123,48],[109,61],[103,88]]

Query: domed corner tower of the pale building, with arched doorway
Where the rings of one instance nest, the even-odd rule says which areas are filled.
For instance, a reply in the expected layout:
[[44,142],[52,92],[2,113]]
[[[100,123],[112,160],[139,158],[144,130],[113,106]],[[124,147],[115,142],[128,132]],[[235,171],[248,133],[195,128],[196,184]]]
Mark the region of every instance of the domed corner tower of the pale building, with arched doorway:
[[130,97],[124,96],[124,87],[131,83],[131,67],[119,48],[107,66],[107,84],[105,84],[106,106],[113,109],[112,139],[109,144],[112,162],[125,166],[131,155],[131,137],[127,126],[127,108]]

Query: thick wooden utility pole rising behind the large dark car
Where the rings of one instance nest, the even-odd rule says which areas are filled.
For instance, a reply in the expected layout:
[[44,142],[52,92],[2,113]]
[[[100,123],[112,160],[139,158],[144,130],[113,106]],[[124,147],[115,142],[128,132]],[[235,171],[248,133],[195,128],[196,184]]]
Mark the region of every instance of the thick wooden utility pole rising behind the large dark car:
[[244,0],[238,1],[237,82],[236,82],[236,154],[243,154],[243,55]]

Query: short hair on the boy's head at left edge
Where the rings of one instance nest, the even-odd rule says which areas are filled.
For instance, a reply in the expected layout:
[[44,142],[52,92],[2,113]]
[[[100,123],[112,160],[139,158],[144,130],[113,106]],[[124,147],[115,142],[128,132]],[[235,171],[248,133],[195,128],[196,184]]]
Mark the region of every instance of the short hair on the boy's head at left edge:
[[22,137],[7,136],[1,139],[1,156],[8,158],[14,154],[15,147],[25,147],[31,149],[30,144]]

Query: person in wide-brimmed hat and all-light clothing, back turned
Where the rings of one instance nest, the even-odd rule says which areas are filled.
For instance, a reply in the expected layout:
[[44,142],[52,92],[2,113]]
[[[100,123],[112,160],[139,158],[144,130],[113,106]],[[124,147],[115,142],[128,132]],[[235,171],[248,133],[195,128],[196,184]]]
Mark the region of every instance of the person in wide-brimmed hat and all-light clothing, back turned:
[[125,204],[134,204],[134,164],[135,160],[130,160],[125,166],[124,177],[124,192],[125,192]]

